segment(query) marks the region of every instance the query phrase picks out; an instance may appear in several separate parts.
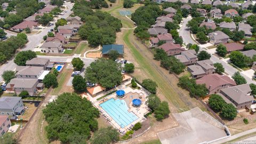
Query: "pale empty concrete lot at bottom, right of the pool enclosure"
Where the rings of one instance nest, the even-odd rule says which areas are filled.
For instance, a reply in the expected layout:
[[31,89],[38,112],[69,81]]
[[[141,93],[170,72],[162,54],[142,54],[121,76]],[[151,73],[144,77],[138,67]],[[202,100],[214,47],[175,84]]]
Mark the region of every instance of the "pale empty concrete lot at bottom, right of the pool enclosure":
[[173,116],[179,126],[157,133],[162,144],[201,143],[227,136],[223,125],[198,107]]

